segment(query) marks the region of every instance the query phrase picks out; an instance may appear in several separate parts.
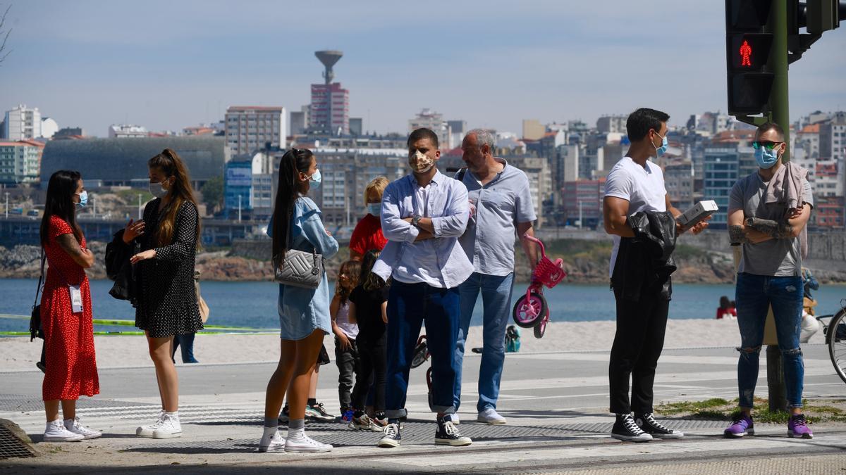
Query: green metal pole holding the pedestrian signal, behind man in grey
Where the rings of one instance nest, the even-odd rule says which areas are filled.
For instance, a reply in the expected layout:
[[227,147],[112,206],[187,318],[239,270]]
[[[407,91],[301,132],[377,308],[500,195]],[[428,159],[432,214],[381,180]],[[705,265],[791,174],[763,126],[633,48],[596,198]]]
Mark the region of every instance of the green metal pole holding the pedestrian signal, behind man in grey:
[[[782,160],[790,160],[790,115],[788,95],[788,0],[774,0],[770,8],[770,22],[767,25],[772,33],[770,61],[772,73],[772,91],[770,109],[772,121],[784,130],[784,141],[788,144]],[[787,411],[786,389],[782,353],[777,345],[766,347],[766,386],[769,394],[770,412]]]

